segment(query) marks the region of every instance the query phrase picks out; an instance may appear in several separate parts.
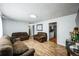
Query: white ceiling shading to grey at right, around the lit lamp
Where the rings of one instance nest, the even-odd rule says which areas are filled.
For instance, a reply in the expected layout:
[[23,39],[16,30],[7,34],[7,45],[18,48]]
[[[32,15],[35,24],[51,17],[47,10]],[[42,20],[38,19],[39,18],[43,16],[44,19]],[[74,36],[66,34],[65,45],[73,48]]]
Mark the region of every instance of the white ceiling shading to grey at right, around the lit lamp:
[[[74,14],[78,8],[78,3],[0,3],[4,16],[28,23]],[[36,18],[31,18],[32,14]]]

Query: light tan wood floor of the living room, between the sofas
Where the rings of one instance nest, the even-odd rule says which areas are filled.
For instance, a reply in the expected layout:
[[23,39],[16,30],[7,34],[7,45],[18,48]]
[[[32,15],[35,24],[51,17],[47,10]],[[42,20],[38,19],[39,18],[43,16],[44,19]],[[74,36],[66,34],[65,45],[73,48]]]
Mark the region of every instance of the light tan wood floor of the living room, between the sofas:
[[33,38],[23,41],[29,48],[35,49],[35,56],[66,56],[65,47],[51,41],[40,43]]

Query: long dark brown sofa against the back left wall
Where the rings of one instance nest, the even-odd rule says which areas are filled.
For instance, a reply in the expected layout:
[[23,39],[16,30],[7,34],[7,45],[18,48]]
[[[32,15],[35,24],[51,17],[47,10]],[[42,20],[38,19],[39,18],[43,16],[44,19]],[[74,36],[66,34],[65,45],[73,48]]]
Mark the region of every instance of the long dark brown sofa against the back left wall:
[[15,32],[15,33],[12,33],[11,39],[12,39],[12,42],[15,42],[17,40],[24,41],[29,39],[29,35],[27,32]]

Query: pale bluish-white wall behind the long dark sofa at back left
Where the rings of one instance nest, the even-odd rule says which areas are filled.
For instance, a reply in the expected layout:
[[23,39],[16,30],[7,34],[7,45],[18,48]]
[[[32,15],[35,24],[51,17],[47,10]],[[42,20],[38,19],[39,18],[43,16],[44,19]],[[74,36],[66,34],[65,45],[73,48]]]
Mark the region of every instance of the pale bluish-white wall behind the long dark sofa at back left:
[[3,34],[4,35],[11,35],[11,33],[13,32],[29,33],[28,29],[29,29],[28,24],[25,22],[3,19]]

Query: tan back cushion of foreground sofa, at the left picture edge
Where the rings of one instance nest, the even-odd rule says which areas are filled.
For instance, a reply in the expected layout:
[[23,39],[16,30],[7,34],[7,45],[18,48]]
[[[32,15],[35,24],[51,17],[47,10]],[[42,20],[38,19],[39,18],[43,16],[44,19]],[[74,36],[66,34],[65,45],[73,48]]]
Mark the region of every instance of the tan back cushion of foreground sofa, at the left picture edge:
[[12,43],[6,37],[0,38],[0,55],[1,56],[13,55]]

